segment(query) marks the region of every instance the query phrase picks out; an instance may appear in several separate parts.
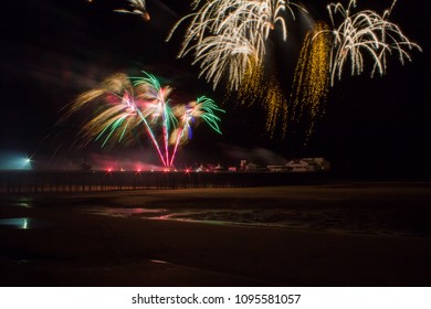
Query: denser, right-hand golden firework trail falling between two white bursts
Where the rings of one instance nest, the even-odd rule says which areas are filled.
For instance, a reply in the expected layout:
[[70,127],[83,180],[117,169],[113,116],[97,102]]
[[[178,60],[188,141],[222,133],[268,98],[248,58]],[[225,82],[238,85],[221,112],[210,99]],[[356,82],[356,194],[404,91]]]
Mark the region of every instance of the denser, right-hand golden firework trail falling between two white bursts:
[[307,137],[314,130],[316,117],[323,114],[329,88],[332,45],[328,29],[326,23],[317,22],[306,34],[292,85],[291,118],[298,122],[299,119],[304,120],[304,117],[308,117],[305,121],[309,124]]

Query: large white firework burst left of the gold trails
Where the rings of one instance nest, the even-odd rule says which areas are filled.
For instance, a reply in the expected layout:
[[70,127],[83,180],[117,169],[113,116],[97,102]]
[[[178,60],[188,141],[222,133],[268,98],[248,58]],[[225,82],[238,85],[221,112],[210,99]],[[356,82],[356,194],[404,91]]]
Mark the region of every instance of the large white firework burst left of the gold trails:
[[208,0],[200,7],[200,2],[193,1],[196,12],[179,20],[167,40],[179,24],[190,20],[178,56],[193,52],[193,64],[200,63],[200,75],[204,74],[214,88],[227,74],[228,88],[238,89],[251,57],[262,63],[265,41],[276,24],[286,40],[283,12],[294,17],[291,8],[294,4],[283,0]]

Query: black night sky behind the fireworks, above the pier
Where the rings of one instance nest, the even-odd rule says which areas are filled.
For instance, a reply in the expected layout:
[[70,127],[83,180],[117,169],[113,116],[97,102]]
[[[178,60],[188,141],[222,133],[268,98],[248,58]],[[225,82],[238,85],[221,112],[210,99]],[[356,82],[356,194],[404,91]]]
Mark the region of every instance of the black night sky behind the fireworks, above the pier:
[[[325,157],[344,175],[431,174],[427,1],[399,0],[390,19],[423,52],[412,51],[413,62],[403,66],[393,55],[382,77],[369,78],[367,64],[360,76],[346,73],[329,89],[326,114],[306,143],[295,132],[285,138],[275,134],[271,138],[264,129],[265,111],[260,104],[238,106],[227,97],[223,87],[214,92],[203,78],[198,78],[199,71],[191,66],[191,57],[176,58],[185,26],[170,42],[165,39],[174,23],[190,12],[189,2],[148,0],[149,22],[113,12],[127,7],[127,1],[120,0],[2,3],[1,150],[52,158],[60,146],[70,145],[73,138],[73,127],[56,126],[64,106],[113,73],[136,76],[144,70],[175,88],[172,100],[207,95],[227,110],[221,122],[223,135],[200,126],[181,150],[178,162],[235,164],[240,159],[249,159],[269,164],[306,156]],[[391,3],[358,2],[360,8],[378,12]],[[329,22],[325,1],[303,3],[315,20]],[[290,30],[287,42],[280,47],[273,42],[276,52],[266,60],[280,68],[277,76],[286,92],[302,44],[301,19]],[[146,146],[116,149],[108,156],[136,153],[139,147]],[[97,149],[90,147],[74,156],[85,158]],[[151,160],[148,156],[147,159]]]

